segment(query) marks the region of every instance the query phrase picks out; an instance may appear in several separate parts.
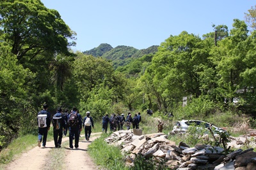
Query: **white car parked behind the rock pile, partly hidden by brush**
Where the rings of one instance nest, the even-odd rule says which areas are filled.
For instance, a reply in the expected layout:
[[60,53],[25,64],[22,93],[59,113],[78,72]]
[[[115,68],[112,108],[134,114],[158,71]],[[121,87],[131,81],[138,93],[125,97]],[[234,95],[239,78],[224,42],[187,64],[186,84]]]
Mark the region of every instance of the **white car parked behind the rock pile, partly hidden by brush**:
[[216,127],[215,125],[209,124],[208,122],[204,122],[202,120],[180,120],[177,121],[176,124],[173,126],[172,133],[186,133],[188,131],[189,125],[196,125],[199,128],[204,126],[206,129],[208,127],[211,127],[212,131],[214,133],[216,132],[224,132],[224,129],[221,129],[220,127]]

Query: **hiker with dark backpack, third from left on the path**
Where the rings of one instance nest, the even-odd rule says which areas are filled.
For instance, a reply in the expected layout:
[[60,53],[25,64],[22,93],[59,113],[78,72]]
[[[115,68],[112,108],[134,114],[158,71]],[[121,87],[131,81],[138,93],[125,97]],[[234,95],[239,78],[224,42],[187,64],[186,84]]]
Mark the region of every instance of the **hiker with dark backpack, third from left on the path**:
[[77,108],[73,108],[68,115],[69,148],[73,149],[73,139],[75,136],[75,148],[79,147],[79,132],[82,131],[82,118],[77,113]]

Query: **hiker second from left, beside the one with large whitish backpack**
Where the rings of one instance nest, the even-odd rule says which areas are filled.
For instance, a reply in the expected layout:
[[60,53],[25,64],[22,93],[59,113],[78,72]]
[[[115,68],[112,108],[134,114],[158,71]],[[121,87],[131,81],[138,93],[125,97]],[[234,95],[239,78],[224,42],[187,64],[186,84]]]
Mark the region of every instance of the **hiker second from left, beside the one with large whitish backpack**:
[[57,113],[52,117],[53,126],[53,139],[55,148],[61,147],[61,141],[63,137],[63,131],[66,127],[64,115],[62,114],[62,109],[58,108]]

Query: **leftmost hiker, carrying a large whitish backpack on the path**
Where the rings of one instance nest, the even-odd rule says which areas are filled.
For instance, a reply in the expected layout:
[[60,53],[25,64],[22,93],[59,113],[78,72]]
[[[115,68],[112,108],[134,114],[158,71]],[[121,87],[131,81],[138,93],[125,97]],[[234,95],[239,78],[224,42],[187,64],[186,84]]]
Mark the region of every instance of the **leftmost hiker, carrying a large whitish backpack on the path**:
[[38,123],[38,147],[41,147],[42,142],[42,148],[45,148],[46,140],[47,140],[47,134],[50,130],[51,125],[51,114],[48,110],[48,105],[43,105],[43,110],[38,112],[37,115],[37,123]]

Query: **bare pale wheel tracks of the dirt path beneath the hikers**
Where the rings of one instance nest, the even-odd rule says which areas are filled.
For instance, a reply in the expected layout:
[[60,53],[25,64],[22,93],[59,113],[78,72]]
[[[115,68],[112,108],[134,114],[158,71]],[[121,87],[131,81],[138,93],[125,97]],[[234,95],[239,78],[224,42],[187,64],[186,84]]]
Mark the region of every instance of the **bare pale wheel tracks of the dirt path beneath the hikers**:
[[[101,133],[101,132],[100,132]],[[88,145],[92,143],[94,139],[99,137],[100,133],[92,133],[90,141],[86,141],[84,136],[79,140],[79,148],[70,150],[68,147],[65,148],[65,169],[86,169],[95,170],[97,166],[93,164],[92,159],[89,157],[87,151]],[[68,141],[68,137],[63,138],[62,143]],[[8,164],[6,170],[31,170],[31,169],[45,169],[45,161],[47,159],[47,154],[50,150],[56,149],[54,147],[54,141],[47,141],[46,148],[35,148],[23,153],[19,159],[14,160]],[[76,162],[76,164],[74,164]],[[72,163],[72,164],[71,164]]]

